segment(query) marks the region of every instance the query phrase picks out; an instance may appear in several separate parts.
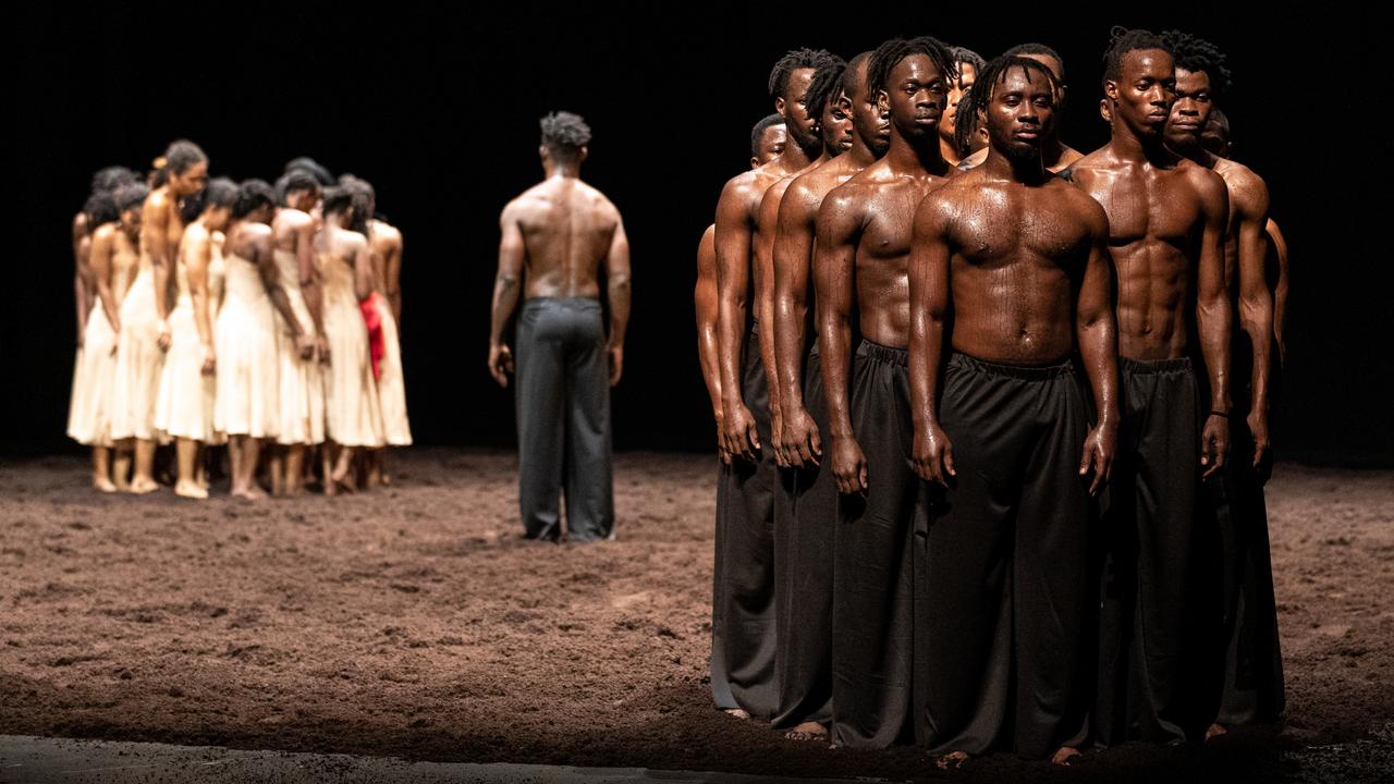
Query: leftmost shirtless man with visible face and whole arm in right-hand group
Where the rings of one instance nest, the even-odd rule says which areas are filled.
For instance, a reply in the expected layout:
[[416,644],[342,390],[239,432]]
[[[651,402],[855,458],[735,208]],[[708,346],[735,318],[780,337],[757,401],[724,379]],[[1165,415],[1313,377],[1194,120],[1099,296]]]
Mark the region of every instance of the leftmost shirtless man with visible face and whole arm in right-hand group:
[[768,720],[778,703],[772,540],[778,470],[771,438],[778,400],[767,382],[767,367],[774,363],[772,314],[760,312],[772,304],[767,290],[774,282],[760,275],[754,259],[760,199],[822,152],[804,98],[814,71],[831,57],[821,49],[796,49],[775,63],[768,86],[775,112],[785,119],[785,151],[732,177],[717,201],[721,448],[732,460],[717,490],[711,691],[717,707],[737,718]]

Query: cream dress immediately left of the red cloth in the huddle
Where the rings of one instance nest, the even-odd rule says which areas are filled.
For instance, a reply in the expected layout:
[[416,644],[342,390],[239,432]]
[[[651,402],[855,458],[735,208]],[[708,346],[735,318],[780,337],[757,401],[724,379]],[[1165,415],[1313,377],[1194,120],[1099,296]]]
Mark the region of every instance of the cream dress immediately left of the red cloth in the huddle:
[[382,407],[368,356],[368,326],[353,290],[353,268],[335,254],[316,254],[325,292],[326,435],[344,446],[382,446]]

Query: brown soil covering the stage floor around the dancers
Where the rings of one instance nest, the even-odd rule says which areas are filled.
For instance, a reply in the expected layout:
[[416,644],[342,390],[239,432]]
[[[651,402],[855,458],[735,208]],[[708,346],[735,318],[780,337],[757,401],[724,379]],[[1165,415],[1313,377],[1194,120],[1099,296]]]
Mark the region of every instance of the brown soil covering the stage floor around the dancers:
[[[413,451],[374,494],[99,495],[0,463],[0,734],[739,771],[935,776],[711,707],[715,460],[618,459],[619,540],[520,541],[513,458]],[[960,781],[1359,780],[1394,741],[1394,474],[1270,485],[1288,727]]]

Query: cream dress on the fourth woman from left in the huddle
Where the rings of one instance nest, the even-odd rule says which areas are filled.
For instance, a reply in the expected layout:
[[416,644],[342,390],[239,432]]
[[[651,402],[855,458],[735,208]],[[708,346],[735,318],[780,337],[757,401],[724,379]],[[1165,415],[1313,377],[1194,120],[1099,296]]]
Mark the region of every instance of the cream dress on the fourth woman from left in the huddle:
[[226,254],[223,265],[223,307],[213,328],[213,428],[227,435],[275,438],[280,424],[275,308],[255,264]]

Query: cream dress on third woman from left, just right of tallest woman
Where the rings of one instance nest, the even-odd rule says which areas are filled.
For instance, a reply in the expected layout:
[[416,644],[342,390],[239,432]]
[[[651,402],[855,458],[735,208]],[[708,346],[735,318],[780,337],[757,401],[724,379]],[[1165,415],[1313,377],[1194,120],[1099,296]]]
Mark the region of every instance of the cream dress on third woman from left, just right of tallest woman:
[[[204,372],[204,343],[194,317],[185,254],[208,237],[208,229],[194,222],[184,229],[174,261],[177,299],[170,310],[170,349],[164,354],[160,393],[155,402],[155,427],[163,438],[209,441],[213,437],[213,374]],[[216,352],[215,352],[216,353]]]

